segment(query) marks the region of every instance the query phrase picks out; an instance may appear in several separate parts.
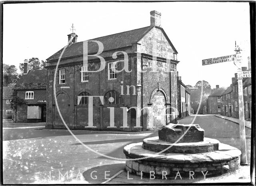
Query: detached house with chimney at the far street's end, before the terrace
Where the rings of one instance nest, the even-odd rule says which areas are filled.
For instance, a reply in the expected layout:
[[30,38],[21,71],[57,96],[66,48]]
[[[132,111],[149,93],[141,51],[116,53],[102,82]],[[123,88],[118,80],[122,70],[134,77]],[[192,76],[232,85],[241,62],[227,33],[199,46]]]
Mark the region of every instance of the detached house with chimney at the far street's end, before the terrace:
[[208,113],[220,114],[221,113],[221,95],[226,89],[220,89],[219,85],[216,85],[216,89],[212,89],[212,93],[208,96]]

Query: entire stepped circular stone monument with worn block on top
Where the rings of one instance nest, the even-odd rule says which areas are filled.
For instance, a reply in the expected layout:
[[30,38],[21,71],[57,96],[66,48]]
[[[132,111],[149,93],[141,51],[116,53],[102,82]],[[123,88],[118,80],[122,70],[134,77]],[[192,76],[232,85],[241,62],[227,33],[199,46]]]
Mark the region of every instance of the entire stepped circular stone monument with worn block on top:
[[182,178],[189,178],[190,171],[194,176],[203,176],[202,172],[208,171],[210,176],[232,172],[240,166],[241,151],[216,139],[204,138],[199,125],[170,124],[160,129],[158,135],[124,147],[126,158],[130,159],[126,160],[127,171],[144,176],[153,171],[161,177],[174,177],[179,171]]

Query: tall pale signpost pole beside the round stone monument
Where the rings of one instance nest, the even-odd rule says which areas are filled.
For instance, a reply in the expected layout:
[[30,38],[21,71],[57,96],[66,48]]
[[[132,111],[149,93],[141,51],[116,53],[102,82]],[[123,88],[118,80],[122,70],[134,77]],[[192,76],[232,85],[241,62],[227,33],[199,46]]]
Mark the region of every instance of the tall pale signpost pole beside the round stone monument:
[[247,164],[246,157],[246,135],[245,135],[245,122],[244,122],[244,94],[243,94],[243,77],[242,77],[242,55],[240,47],[236,46],[236,59],[238,61],[238,108],[239,108],[239,127],[240,127],[240,150],[241,150],[241,160],[242,165]]

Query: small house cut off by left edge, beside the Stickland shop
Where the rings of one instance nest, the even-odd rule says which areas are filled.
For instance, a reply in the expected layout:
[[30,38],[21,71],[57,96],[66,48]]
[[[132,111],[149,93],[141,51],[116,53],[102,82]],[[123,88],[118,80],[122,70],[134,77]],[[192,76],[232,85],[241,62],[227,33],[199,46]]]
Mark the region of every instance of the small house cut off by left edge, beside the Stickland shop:
[[4,119],[12,118],[12,88],[13,87],[3,87],[3,107],[2,107],[2,116]]

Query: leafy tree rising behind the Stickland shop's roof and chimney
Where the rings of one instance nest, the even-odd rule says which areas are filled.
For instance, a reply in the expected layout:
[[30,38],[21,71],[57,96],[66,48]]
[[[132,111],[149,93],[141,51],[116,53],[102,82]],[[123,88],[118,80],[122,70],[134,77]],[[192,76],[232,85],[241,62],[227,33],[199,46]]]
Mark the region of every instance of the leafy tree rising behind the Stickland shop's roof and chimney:
[[20,63],[20,66],[19,66],[21,73],[24,73],[24,63],[28,63],[29,70],[40,70],[40,69],[44,69],[44,67],[46,66],[46,61],[41,60],[40,62],[40,60],[37,57],[24,59],[24,62]]

